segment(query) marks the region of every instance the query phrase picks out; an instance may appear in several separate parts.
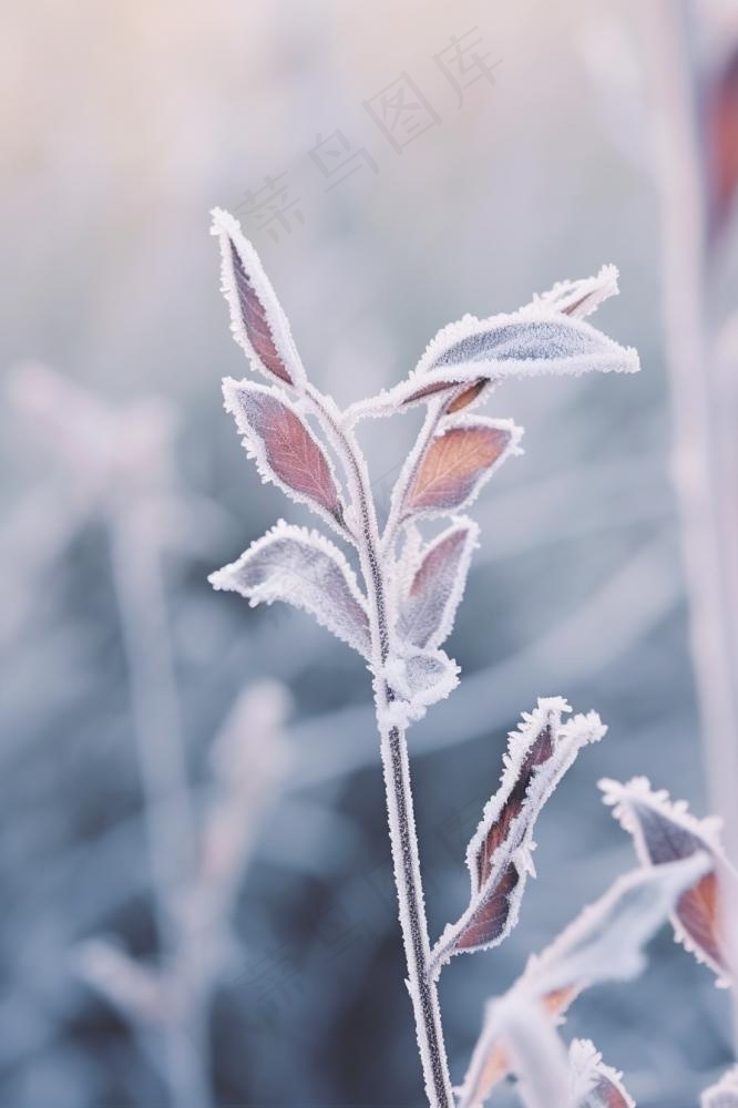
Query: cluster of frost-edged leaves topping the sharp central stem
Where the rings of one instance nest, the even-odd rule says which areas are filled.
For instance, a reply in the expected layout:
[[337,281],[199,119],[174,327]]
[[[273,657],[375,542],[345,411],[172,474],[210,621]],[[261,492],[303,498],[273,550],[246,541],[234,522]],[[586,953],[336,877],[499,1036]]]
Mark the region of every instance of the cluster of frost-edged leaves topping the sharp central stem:
[[[372,634],[367,598],[346,558],[315,533],[280,525],[211,577],[216,587],[238,592],[252,604],[279,599],[310,612],[370,661],[376,678],[388,683],[388,722],[403,726],[458,684],[458,667],[440,647],[464,589],[476,527],[454,513],[468,507],[500,465],[520,452],[520,428],[469,409],[505,376],[637,369],[633,351],[584,321],[617,290],[617,274],[605,267],[596,277],[562,283],[510,316],[465,316],[435,336],[407,381],[341,414],[329,398],[316,399],[287,317],[236,219],[216,209],[212,233],[221,247],[222,289],[234,338],[252,369],[269,381],[224,380],[226,410],[264,481],[307,504],[342,540],[361,547],[361,524],[310,420],[336,449],[351,440],[351,423],[360,414],[430,401],[428,433],[421,432],[398,478],[391,519],[404,533],[417,520],[451,516],[452,522],[424,547],[417,544],[417,557],[396,560],[392,541],[383,550],[391,625],[386,663],[375,656],[379,636]],[[356,443],[352,449],[358,451]],[[360,456],[357,464],[363,465]]]

